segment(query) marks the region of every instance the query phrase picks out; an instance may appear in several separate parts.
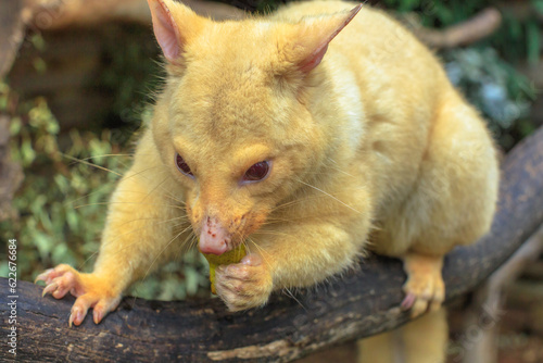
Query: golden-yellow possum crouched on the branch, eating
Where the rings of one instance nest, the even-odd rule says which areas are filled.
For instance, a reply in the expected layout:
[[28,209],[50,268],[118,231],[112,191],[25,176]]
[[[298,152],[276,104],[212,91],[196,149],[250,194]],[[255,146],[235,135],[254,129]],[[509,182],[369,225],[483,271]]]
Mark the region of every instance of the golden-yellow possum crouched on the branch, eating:
[[94,270],[38,277],[46,293],[77,297],[70,323],[89,308],[99,323],[194,235],[203,253],[245,245],[216,270],[231,311],[323,281],[365,248],[404,261],[405,309],[438,309],[443,255],[489,229],[498,170],[484,122],[433,54],[356,3],[213,22],[148,2],[167,80]]

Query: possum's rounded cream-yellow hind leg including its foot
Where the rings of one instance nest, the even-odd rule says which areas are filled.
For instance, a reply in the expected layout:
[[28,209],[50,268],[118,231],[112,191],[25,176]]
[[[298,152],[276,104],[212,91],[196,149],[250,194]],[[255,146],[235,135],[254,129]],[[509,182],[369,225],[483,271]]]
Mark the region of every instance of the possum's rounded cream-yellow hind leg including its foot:
[[437,310],[444,298],[443,256],[477,241],[495,210],[498,171],[495,149],[477,112],[456,93],[437,113],[418,180],[395,225],[395,240],[406,240],[408,279],[404,308],[419,315]]

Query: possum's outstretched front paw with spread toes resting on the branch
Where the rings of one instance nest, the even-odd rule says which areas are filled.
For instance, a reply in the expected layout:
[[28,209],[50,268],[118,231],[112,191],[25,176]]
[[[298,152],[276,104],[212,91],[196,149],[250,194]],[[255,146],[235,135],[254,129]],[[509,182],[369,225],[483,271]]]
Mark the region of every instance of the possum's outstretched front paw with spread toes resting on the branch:
[[[87,311],[92,308],[93,321],[100,323],[121,301],[121,293],[114,293],[111,284],[93,274],[81,274],[72,266],[61,264],[47,270],[36,277],[36,281],[46,283],[42,296],[51,293],[55,299],[62,299],[70,292],[77,299],[72,306],[68,324],[79,325],[85,320]],[[110,285],[110,286],[109,286]]]

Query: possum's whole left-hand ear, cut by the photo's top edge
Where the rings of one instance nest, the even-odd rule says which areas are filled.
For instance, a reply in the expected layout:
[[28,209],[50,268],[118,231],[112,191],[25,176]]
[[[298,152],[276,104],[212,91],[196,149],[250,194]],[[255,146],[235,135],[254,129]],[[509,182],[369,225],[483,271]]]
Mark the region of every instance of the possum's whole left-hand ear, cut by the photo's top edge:
[[206,20],[186,5],[172,0],[147,0],[153,30],[164,57],[179,63],[187,43],[204,27]]

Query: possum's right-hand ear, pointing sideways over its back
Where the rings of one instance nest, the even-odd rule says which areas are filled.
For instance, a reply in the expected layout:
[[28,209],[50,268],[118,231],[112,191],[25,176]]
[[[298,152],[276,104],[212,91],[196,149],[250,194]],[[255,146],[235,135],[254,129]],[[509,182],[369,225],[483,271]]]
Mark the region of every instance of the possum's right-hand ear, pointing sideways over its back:
[[353,20],[362,5],[333,15],[310,17],[293,25],[282,49],[285,60],[303,73],[313,71],[325,57],[330,41]]

